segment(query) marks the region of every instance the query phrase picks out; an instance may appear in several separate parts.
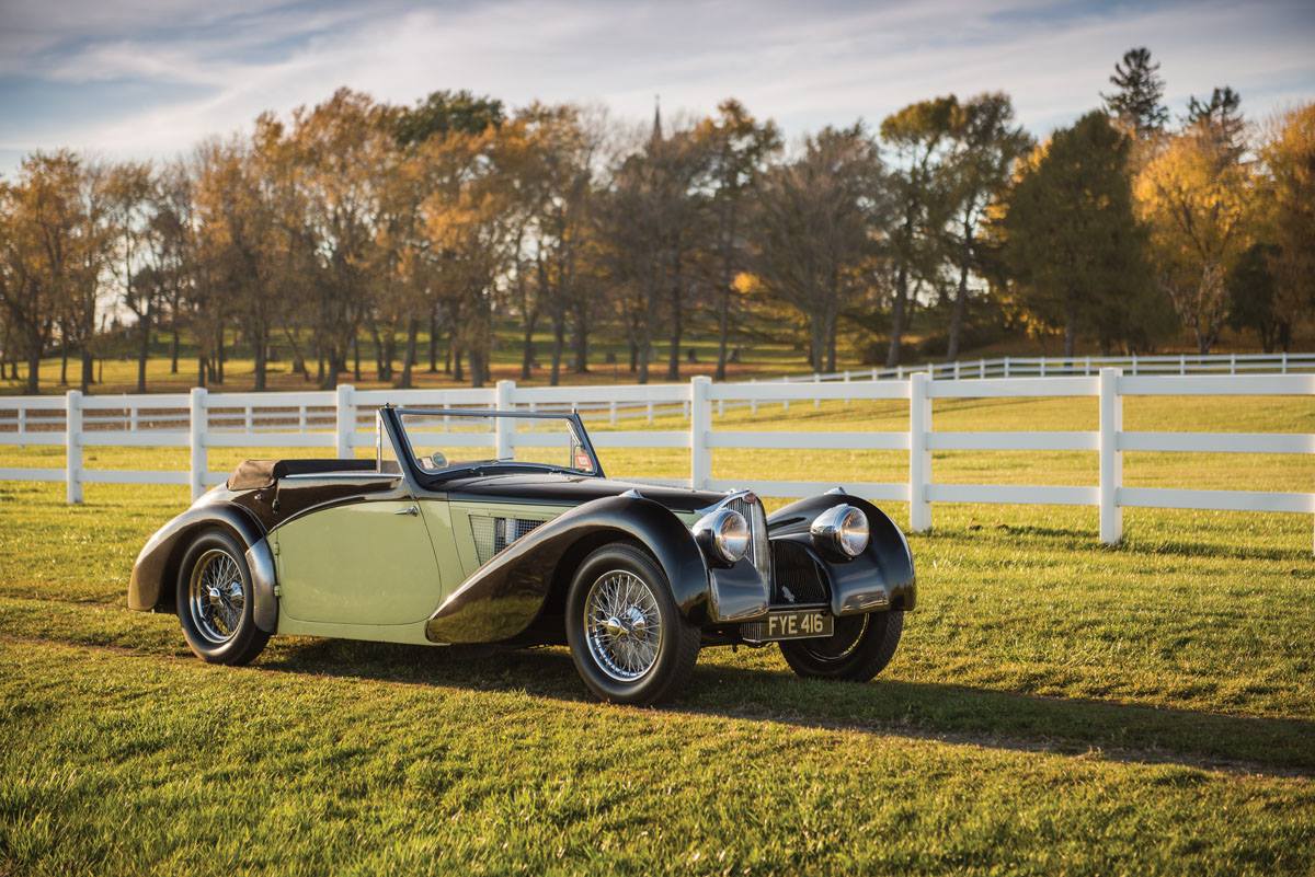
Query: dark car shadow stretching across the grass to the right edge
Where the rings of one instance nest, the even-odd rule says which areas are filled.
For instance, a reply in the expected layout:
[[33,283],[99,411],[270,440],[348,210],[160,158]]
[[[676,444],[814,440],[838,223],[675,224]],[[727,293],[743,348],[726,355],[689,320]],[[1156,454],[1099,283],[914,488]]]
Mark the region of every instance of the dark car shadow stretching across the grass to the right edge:
[[[292,641],[258,667],[468,691],[588,701],[562,649],[427,649],[335,639]],[[600,709],[613,709],[600,705]],[[1088,754],[1241,772],[1315,776],[1315,722],[1227,716],[944,683],[867,684],[701,663],[665,712],[789,723],[992,748]]]

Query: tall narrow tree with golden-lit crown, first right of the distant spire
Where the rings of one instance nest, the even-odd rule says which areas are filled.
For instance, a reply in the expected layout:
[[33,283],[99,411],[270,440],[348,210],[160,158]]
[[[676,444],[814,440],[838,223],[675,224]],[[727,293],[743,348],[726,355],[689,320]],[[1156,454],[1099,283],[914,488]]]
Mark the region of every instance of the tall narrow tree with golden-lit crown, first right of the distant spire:
[[705,185],[715,217],[710,285],[717,309],[715,378],[725,381],[735,278],[748,259],[744,211],[771,160],[781,151],[781,134],[775,122],[760,123],[743,104],[730,98],[718,104],[715,117],[698,123],[694,139],[707,156]]

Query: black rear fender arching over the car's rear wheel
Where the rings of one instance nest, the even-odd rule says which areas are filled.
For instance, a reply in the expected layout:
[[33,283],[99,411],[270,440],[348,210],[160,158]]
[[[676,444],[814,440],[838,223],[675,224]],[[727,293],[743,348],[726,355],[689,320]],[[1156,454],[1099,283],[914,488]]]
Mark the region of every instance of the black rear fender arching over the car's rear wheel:
[[252,616],[260,630],[274,633],[279,604],[274,593],[274,555],[264,538],[264,529],[250,512],[227,502],[199,503],[155,530],[133,565],[128,582],[128,608],[138,612],[168,608],[174,600],[178,566],[192,537],[210,526],[220,526],[246,546],[251,570]]

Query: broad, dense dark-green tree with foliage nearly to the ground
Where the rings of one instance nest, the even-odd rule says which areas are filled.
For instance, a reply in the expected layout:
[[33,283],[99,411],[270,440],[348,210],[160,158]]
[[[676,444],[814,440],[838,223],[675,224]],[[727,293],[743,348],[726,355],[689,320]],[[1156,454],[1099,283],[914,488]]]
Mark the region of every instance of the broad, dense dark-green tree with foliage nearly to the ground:
[[994,232],[1027,323],[1080,333],[1102,348],[1126,340],[1148,294],[1144,232],[1132,213],[1127,137],[1102,112],[1055,133],[1024,163]]

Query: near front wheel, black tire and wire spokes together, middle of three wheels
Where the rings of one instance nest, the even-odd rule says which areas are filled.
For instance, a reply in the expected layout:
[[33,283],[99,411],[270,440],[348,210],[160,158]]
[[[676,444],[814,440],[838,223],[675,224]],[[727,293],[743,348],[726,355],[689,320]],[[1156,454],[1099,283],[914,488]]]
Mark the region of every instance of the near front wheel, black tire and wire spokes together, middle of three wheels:
[[571,582],[567,642],[589,691],[613,704],[677,693],[698,660],[698,628],[685,621],[667,576],[643,550],[613,542]]

